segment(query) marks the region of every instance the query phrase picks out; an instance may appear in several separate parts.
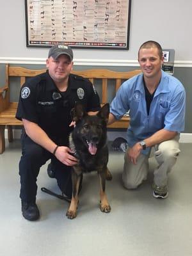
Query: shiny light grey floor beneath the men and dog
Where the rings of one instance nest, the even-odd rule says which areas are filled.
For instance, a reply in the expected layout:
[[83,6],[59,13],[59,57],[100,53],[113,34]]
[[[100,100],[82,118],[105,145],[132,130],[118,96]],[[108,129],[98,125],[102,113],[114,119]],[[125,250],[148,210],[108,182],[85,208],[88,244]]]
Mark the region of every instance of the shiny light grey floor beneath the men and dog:
[[91,173],[84,176],[75,220],[65,217],[67,202],[40,191],[45,186],[58,192],[56,181],[47,176],[47,166],[43,166],[37,196],[41,218],[30,222],[20,212],[20,143],[6,145],[0,155],[1,255],[191,256],[191,146],[180,145],[182,152],[170,174],[170,195],[166,200],[152,197],[152,170],[140,188],[122,188],[124,154],[110,152],[108,167],[113,180],[107,183],[107,194],[111,212],[100,212],[99,183],[96,173]]

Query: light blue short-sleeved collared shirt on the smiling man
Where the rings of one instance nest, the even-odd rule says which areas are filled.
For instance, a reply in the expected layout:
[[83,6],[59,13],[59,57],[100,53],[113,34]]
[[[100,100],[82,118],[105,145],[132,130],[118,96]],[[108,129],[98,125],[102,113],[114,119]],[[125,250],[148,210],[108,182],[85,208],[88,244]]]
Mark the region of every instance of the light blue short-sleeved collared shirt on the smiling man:
[[[116,119],[129,111],[130,126],[127,129],[127,143],[132,147],[155,132],[184,131],[186,93],[180,81],[162,70],[161,81],[150,104],[149,115],[145,100],[143,74],[134,76],[120,86],[111,102],[110,112]],[[148,154],[143,150],[143,154]]]

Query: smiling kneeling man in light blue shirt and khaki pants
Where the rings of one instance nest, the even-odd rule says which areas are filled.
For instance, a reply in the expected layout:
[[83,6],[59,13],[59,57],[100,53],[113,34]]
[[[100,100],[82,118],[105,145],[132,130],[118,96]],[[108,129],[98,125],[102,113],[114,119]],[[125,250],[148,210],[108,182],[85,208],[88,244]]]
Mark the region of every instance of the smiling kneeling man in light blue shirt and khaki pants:
[[168,173],[179,156],[179,133],[184,131],[186,95],[178,79],[161,69],[163,51],[155,41],[143,43],[138,51],[142,73],[125,81],[111,103],[109,124],[128,110],[124,172],[127,189],[135,189],[147,179],[151,148],[158,167],[154,170],[153,196],[168,196]]

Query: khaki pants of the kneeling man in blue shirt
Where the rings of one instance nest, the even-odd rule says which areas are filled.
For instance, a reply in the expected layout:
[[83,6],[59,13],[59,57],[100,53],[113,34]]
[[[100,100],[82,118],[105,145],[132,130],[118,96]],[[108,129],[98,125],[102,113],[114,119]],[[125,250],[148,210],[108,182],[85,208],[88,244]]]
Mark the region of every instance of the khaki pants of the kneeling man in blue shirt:
[[[163,141],[154,146],[154,156],[158,167],[154,170],[154,183],[158,186],[166,186],[168,182],[168,173],[171,172],[173,165],[179,156],[179,135],[173,140]],[[129,148],[127,148],[129,150]],[[148,155],[140,154],[136,164],[129,161],[127,151],[125,152],[124,172],[122,175],[123,183],[127,189],[137,188],[143,180],[147,179],[148,173]]]

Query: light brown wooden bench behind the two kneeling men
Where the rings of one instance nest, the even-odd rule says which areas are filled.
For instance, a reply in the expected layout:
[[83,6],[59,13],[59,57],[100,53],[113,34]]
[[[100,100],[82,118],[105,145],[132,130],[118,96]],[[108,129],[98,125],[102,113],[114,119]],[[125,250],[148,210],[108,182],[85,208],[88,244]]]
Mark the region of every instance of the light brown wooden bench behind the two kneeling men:
[[[5,150],[4,141],[4,129],[7,127],[8,130],[8,141],[13,141],[13,130],[12,125],[22,125],[22,122],[15,118],[15,113],[17,110],[17,102],[10,102],[10,77],[19,77],[20,86],[26,81],[26,77],[33,77],[38,74],[45,72],[45,69],[32,70],[23,67],[11,67],[6,65],[6,84],[0,87],[0,154]],[[140,74],[141,70],[133,70],[129,72],[115,72],[106,69],[90,69],[73,71],[73,74],[86,77],[90,79],[92,83],[95,84],[95,79],[100,79],[102,81],[102,96],[101,103],[104,104],[108,102],[108,82],[109,80],[115,80],[115,92],[118,90],[122,81],[131,78],[137,74]],[[97,86],[96,86],[97,88]],[[123,116],[121,120],[108,125],[109,128],[127,128],[129,125],[129,116]]]

